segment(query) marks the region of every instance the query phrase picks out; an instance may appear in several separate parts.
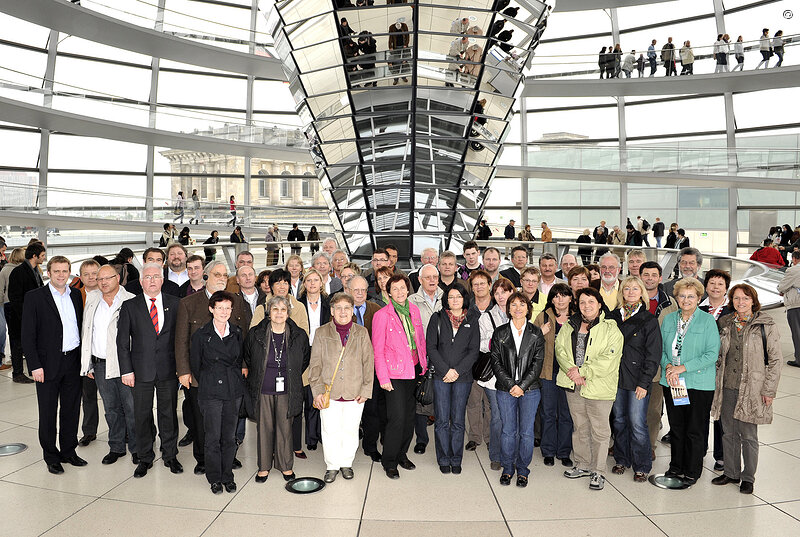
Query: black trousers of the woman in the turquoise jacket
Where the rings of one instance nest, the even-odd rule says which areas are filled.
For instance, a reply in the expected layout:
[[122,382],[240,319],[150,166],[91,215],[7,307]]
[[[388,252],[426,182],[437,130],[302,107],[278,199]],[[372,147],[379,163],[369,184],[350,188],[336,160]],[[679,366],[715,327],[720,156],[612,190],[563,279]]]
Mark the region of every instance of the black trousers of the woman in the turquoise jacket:
[[689,404],[675,406],[669,387],[662,386],[669,419],[671,458],[669,469],[698,479],[703,473],[703,457],[708,446],[708,423],[713,390],[688,390]]

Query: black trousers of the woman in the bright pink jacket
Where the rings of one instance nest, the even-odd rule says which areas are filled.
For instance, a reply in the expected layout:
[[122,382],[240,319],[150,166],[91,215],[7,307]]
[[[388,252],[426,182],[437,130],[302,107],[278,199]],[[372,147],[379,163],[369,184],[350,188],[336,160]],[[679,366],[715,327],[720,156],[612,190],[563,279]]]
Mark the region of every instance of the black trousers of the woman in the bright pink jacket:
[[416,380],[392,379],[392,388],[386,392],[386,432],[383,435],[381,463],[386,470],[397,469],[397,463],[407,458],[408,446],[414,436],[414,399]]

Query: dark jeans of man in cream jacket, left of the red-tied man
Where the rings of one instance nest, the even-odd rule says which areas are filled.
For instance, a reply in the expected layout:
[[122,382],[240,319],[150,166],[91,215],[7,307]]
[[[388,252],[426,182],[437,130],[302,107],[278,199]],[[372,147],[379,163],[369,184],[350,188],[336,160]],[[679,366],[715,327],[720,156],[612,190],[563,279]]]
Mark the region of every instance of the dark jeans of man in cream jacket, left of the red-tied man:
[[133,389],[125,386],[117,377],[106,378],[106,362],[94,364],[94,380],[103,400],[106,423],[108,423],[108,447],[114,453],[125,453],[125,433],[128,433],[128,449],[136,451],[136,429],[133,417]]

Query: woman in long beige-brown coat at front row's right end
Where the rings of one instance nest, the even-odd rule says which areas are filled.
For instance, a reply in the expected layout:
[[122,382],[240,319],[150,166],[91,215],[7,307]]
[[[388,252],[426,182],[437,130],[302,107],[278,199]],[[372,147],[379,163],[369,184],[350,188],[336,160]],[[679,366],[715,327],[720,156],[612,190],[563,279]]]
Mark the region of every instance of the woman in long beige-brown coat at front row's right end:
[[727,485],[741,481],[739,492],[752,494],[758,466],[758,425],[772,423],[772,401],[781,375],[781,343],[772,317],[759,311],[755,289],[740,283],[731,288],[728,297],[736,312],[719,320],[719,360],[711,405],[711,415],[722,420],[725,473],[711,482]]

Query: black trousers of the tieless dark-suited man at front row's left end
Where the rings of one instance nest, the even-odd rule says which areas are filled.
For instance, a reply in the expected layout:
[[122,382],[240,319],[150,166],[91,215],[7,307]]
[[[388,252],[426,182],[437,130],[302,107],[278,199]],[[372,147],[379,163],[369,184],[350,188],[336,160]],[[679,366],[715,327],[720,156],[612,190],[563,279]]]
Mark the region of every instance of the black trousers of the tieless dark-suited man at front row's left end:
[[[39,444],[42,446],[44,461],[47,464],[55,464],[75,455],[75,447],[78,445],[78,419],[81,415],[80,371],[79,347],[62,357],[59,370],[53,378],[36,383],[36,399],[39,403]],[[58,447],[56,447],[56,420],[58,420]]]

